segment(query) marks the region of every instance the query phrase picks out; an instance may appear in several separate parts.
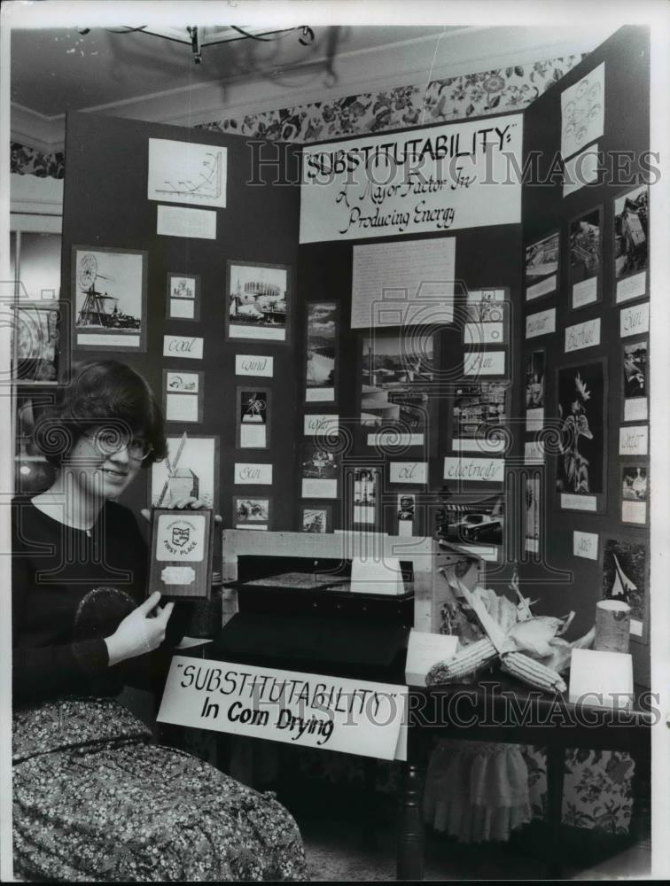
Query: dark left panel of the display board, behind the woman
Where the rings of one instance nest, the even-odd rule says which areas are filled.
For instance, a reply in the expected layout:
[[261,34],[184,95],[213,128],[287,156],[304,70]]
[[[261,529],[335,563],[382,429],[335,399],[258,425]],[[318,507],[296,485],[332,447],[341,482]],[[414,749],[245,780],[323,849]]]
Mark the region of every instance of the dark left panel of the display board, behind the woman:
[[252,526],[295,517],[286,379],[298,371],[298,157],[263,148],[275,166],[254,166],[258,144],[241,136],[68,115],[61,291],[74,306],[72,360],[138,369],[166,408],[172,462],[181,447],[172,471],[163,462],[129,489],[135,512],[166,486],[167,503],[171,474],[175,494],[196,490],[225,527],[244,522],[233,501]]

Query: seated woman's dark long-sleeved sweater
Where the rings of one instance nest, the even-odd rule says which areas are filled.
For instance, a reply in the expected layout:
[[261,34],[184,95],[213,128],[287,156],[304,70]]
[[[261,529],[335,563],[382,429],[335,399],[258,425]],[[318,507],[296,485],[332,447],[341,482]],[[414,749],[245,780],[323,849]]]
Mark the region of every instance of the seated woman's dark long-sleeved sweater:
[[[15,704],[148,685],[158,657],[110,668],[104,639],[144,600],[146,569],[144,539],[121,505],[106,502],[87,532],[48,517],[27,497],[12,501]],[[164,646],[181,639],[188,614],[175,607]]]

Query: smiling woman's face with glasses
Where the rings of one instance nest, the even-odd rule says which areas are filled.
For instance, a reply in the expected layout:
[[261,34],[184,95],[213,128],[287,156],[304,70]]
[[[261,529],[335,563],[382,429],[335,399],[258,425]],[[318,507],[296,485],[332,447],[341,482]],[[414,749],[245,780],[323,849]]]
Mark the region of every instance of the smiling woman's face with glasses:
[[136,478],[142,459],[130,455],[127,446],[116,451],[101,447],[97,431],[94,428],[82,434],[64,463],[84,494],[97,499],[115,499]]

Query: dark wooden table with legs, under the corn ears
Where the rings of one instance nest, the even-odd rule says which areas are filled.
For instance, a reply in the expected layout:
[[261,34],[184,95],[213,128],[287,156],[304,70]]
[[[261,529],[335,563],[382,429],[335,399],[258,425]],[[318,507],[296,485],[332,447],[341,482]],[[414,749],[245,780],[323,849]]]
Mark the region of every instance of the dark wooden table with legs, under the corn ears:
[[561,878],[561,811],[565,750],[627,751],[635,774],[650,766],[655,715],[569,703],[506,677],[470,684],[409,688],[408,756],[399,796],[398,880],[424,874],[423,801],[431,738],[533,744],[547,749],[548,878]]

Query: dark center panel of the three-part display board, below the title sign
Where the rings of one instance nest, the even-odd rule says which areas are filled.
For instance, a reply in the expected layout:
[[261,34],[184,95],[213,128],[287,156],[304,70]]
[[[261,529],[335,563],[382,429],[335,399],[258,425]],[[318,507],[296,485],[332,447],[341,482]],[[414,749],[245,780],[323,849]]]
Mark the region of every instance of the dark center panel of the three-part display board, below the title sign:
[[[508,123],[517,131],[518,114],[496,118],[503,129]],[[473,120],[470,128],[489,124]],[[442,137],[443,130],[409,129],[385,141],[414,144],[426,133]],[[364,147],[365,138],[326,147],[352,151],[359,143]],[[520,153],[509,147],[520,165]],[[306,150],[318,157],[322,148]],[[321,354],[331,374],[318,400],[309,371],[300,379],[300,513],[316,525],[313,531],[332,525],[419,537],[451,532],[487,559],[487,581],[505,587],[513,568],[503,562],[505,465],[521,448],[511,379],[520,224],[494,224],[489,215],[466,229],[368,238],[359,232],[354,243],[324,232],[323,242],[306,242],[316,239],[307,222],[318,205],[311,194],[305,204],[304,191],[300,347]],[[447,191],[443,207],[451,203]],[[520,183],[510,188],[506,206],[519,191]],[[319,311],[336,330],[331,341],[323,338]],[[315,437],[313,429],[318,433],[329,416],[333,430]],[[517,508],[522,492],[509,493],[518,497]]]

